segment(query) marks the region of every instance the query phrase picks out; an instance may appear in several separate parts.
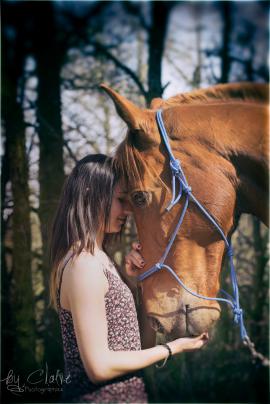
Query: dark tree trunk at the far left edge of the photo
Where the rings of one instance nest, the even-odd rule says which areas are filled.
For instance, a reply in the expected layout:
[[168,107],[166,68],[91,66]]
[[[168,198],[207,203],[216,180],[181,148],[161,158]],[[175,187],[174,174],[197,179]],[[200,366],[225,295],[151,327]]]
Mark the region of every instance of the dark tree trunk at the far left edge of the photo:
[[[3,118],[7,153],[6,170],[9,174],[13,196],[12,214],[12,283],[4,266],[4,284],[10,286],[4,293],[5,316],[10,313],[12,325],[12,357],[6,354],[4,361],[14,372],[26,374],[35,369],[35,315],[31,275],[31,229],[28,187],[28,161],[25,150],[25,123],[21,102],[18,100],[18,83],[23,75],[25,58],[23,14],[20,4],[4,4],[5,21],[16,32],[15,39],[7,34],[3,40]],[[6,32],[5,32],[6,33]],[[5,160],[4,160],[5,161]],[[5,178],[5,181],[7,177]],[[5,193],[5,189],[2,190]],[[4,261],[5,263],[5,261]],[[8,301],[7,301],[7,300]],[[9,303],[11,302],[11,305]],[[5,317],[4,317],[5,319]],[[11,324],[10,324],[11,323]],[[9,339],[10,342],[10,339]]]

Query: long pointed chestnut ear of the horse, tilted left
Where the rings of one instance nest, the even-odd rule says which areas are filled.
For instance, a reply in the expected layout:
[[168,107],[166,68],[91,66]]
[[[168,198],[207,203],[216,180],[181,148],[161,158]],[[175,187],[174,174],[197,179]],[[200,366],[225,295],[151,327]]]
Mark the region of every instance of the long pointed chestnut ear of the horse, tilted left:
[[[126,122],[129,129],[139,130],[141,133],[144,132],[145,137],[149,137],[150,134],[147,134],[144,128],[149,129],[149,123],[154,121],[153,112],[137,107],[131,101],[127,100],[104,83],[100,85],[100,88],[106,91],[111,97],[119,116]],[[154,139],[152,139],[152,141],[153,140]]]

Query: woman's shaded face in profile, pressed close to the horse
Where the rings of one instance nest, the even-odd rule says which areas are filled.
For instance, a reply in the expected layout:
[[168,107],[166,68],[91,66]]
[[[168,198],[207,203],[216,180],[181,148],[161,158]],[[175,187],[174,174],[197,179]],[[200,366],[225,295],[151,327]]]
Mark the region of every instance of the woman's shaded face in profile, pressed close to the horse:
[[127,192],[121,182],[118,182],[114,188],[109,226],[106,233],[119,233],[130,214],[131,207],[127,200]]

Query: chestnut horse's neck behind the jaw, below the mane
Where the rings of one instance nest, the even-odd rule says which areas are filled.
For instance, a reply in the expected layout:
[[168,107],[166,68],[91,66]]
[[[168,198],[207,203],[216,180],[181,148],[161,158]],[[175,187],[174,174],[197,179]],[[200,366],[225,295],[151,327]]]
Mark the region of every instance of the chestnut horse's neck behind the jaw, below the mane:
[[267,105],[243,101],[180,108],[179,125],[182,130],[186,126],[187,137],[192,132],[197,141],[233,165],[237,213],[253,214],[268,224]]

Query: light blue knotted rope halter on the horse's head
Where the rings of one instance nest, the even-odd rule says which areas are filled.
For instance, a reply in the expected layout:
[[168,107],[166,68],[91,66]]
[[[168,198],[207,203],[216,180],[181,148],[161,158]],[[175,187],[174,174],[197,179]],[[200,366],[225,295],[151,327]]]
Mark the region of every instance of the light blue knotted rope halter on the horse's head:
[[[169,211],[171,210],[182,198],[182,196],[185,198],[184,201],[184,206],[182,209],[182,212],[179,217],[179,221],[175,227],[175,230],[173,231],[173,234],[171,235],[171,238],[169,240],[169,243],[167,245],[167,248],[160,258],[160,260],[150,269],[148,269],[146,272],[138,276],[139,281],[143,281],[145,278],[147,278],[150,275],[153,275],[155,272],[160,271],[161,269],[166,269],[173,277],[174,279],[191,295],[198,297],[200,299],[204,300],[214,300],[218,302],[224,302],[227,303],[231,306],[233,314],[234,314],[234,322],[239,326],[240,328],[240,335],[243,341],[248,340],[248,335],[246,332],[246,328],[244,325],[244,320],[243,320],[243,310],[240,307],[240,302],[239,302],[239,290],[238,290],[238,283],[237,283],[237,277],[236,277],[236,272],[234,268],[234,263],[233,263],[233,249],[228,241],[227,237],[225,236],[223,230],[221,227],[218,225],[216,220],[210,215],[210,213],[207,212],[207,210],[202,206],[202,204],[196,199],[196,197],[192,193],[191,187],[188,185],[187,179],[185,177],[185,174],[182,170],[180,161],[175,159],[170,143],[169,143],[169,137],[166,132],[163,119],[162,119],[162,111],[158,110],[156,114],[156,120],[157,124],[159,127],[160,134],[162,136],[163,142],[165,144],[165,147],[167,149],[167,152],[169,154],[170,158],[170,168],[172,171],[172,200],[167,206],[166,210]],[[177,187],[178,184],[178,187]],[[178,192],[177,192],[178,189]],[[170,252],[170,249],[173,245],[173,242],[176,238],[176,235],[181,227],[181,224],[184,220],[186,211],[188,209],[189,202],[192,201],[202,212],[202,214],[212,223],[212,225],[216,228],[216,230],[220,233],[222,239],[225,242],[226,246],[226,252],[229,258],[229,265],[230,265],[230,277],[231,277],[231,282],[232,282],[232,295],[229,293],[225,292],[224,290],[220,290],[225,297],[207,297],[200,295],[193,290],[191,290],[189,287],[187,287],[181,279],[176,275],[176,273],[172,270],[172,268],[169,265],[165,264],[166,258]]]

